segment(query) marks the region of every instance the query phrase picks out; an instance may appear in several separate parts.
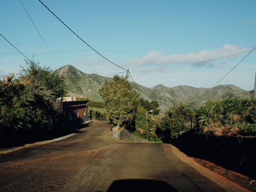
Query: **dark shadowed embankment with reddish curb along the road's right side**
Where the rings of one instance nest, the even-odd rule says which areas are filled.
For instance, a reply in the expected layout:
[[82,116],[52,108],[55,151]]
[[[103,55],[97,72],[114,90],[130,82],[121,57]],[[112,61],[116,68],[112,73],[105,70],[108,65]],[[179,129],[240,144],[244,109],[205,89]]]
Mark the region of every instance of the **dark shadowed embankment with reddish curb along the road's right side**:
[[194,157],[195,161],[208,169],[222,174],[245,188],[250,190],[255,188],[256,137],[217,137],[193,134],[189,131],[178,137],[173,145]]

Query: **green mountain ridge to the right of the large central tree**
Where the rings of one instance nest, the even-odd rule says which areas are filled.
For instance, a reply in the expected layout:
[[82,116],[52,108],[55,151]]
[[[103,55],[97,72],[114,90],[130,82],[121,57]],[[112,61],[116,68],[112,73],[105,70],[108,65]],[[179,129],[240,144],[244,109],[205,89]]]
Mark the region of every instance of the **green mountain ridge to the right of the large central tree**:
[[[174,88],[168,88],[161,84],[153,88],[146,88],[141,85],[137,86],[141,90],[143,97],[148,100],[157,100],[162,110],[166,110],[171,105],[178,104],[179,102],[191,105],[193,108],[198,108],[206,101],[252,97],[250,91],[244,91],[235,85],[218,85],[212,89],[193,88],[187,85],[179,85]],[[206,91],[208,92],[206,93]],[[202,96],[204,93],[206,94]]]

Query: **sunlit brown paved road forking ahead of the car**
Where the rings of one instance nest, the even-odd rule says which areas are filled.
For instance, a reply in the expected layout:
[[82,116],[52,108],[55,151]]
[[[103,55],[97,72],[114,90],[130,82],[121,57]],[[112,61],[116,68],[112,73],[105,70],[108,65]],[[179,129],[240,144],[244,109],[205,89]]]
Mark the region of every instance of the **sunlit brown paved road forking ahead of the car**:
[[171,145],[118,142],[99,122],[58,142],[1,154],[0,191],[107,191],[111,183],[109,191],[243,191],[217,175],[214,183],[182,158]]

